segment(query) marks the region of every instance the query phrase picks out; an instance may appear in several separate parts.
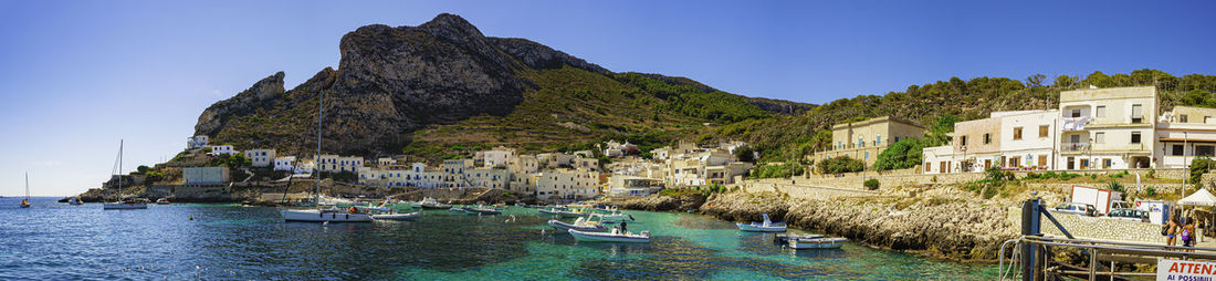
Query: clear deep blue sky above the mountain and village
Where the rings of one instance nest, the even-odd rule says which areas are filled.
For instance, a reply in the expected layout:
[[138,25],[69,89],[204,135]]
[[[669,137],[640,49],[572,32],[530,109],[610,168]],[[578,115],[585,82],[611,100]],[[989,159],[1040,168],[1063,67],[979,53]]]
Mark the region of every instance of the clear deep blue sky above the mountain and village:
[[[441,12],[614,72],[823,103],[951,77],[1216,74],[1214,1],[0,0],[0,195],[96,187],[161,163],[213,102],[337,68],[366,24]],[[1053,79],[1048,80],[1053,80]]]

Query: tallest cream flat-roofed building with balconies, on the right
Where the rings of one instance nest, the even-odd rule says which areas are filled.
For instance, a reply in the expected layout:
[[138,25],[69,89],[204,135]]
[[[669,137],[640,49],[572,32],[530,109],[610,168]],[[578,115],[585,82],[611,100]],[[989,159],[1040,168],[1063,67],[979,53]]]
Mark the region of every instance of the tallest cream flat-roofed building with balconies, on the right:
[[[1063,91],[1059,112],[1060,141],[1057,151],[1060,156],[1057,168],[1076,170],[1155,167],[1155,86]],[[1189,118],[1188,114],[1188,122]]]

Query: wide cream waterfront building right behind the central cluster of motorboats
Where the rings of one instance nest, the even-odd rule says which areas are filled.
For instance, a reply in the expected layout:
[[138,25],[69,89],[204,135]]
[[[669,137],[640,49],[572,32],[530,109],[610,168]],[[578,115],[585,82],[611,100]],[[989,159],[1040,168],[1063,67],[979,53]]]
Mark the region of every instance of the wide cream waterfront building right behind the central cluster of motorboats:
[[536,178],[536,198],[586,199],[599,195],[599,175],[590,170],[552,170]]

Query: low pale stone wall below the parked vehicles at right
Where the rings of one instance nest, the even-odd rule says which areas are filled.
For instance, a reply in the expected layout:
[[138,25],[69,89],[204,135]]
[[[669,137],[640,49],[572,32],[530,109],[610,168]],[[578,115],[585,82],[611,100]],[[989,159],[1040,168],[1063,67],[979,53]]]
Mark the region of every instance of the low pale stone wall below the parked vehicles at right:
[[[1097,217],[1085,217],[1075,214],[1052,213],[1069,234],[1077,238],[1108,240],[1142,243],[1165,243],[1161,236],[1161,226],[1150,223],[1127,221],[1116,219],[1103,219]],[[1047,217],[1040,218],[1041,231],[1047,235],[1065,237],[1064,232],[1055,229]]]

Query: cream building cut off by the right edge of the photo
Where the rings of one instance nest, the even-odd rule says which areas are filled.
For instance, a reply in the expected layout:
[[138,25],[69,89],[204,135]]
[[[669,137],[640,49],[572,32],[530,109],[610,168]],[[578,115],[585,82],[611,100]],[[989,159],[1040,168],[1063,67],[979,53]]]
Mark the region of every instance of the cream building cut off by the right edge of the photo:
[[1188,168],[1216,152],[1216,108],[1175,106],[1158,118],[1154,158],[1159,168]]

